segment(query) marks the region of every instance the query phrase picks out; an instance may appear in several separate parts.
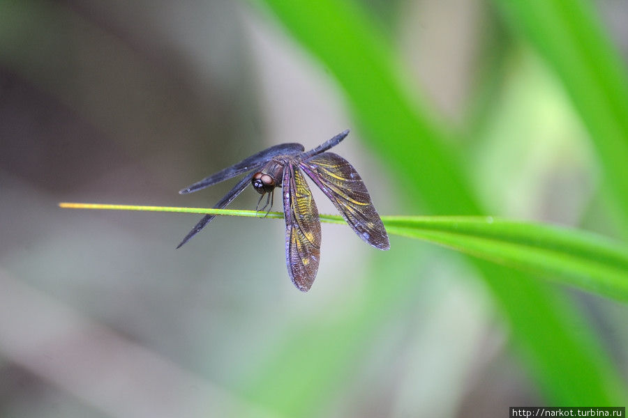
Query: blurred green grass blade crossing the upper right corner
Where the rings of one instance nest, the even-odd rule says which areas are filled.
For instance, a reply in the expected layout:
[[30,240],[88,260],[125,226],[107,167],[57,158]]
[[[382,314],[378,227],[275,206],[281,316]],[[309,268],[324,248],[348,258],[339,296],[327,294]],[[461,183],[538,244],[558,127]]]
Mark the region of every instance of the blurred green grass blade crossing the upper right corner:
[[628,236],[628,72],[586,0],[498,0],[560,77],[587,127]]

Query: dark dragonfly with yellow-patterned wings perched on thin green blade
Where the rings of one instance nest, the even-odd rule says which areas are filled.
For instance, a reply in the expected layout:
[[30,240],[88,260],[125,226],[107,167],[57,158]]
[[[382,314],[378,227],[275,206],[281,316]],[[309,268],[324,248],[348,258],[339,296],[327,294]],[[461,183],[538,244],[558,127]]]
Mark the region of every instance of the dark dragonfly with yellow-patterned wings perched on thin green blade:
[[[362,178],[343,157],[327,152],[348,134],[349,130],[345,130],[307,152],[304,146],[297,143],[271,146],[181,189],[179,193],[197,192],[246,173],[214,208],[225,208],[251,184],[261,194],[256,210],[268,208],[268,215],[273,205],[274,191],[281,187],[287,271],[294,286],[299,291],[307,292],[318,271],[321,231],[316,203],[303,173],[334,203],[359,238],[377,249],[390,249],[388,234]],[[266,201],[260,209],[264,195]],[[199,233],[214,217],[216,215],[202,217],[177,248]]]

